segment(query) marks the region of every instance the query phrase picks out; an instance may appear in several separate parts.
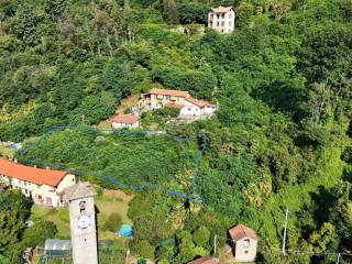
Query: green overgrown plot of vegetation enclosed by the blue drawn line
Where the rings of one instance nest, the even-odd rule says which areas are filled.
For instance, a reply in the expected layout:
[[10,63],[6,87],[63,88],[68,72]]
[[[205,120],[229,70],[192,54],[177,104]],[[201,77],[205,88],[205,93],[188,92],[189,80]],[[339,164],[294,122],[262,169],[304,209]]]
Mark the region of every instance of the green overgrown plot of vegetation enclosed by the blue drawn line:
[[[92,180],[109,188],[138,188],[153,183],[183,190],[188,189],[193,179],[193,174],[188,174],[195,166],[197,145],[191,140],[180,140],[167,135],[105,135],[89,128],[66,129],[50,134],[38,144],[34,143],[24,162],[29,160],[42,166],[55,164],[79,168],[85,175],[94,176]],[[120,184],[97,174],[107,175]],[[188,182],[183,186],[187,176]]]

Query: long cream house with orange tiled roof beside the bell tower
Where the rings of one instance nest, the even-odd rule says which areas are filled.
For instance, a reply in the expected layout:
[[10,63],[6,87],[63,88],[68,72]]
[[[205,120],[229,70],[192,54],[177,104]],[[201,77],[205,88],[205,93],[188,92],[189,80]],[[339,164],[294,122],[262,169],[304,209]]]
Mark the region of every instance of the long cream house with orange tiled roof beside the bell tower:
[[20,189],[34,204],[48,207],[65,206],[64,189],[75,185],[75,175],[50,168],[29,167],[0,158],[0,183]]

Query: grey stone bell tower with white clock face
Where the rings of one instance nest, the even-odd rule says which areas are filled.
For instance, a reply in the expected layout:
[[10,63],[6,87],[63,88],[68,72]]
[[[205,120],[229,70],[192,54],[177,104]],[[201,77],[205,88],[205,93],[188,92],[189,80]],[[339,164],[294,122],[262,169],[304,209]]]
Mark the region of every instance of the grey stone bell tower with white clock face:
[[98,264],[95,196],[89,183],[65,189],[69,205],[74,264]]

